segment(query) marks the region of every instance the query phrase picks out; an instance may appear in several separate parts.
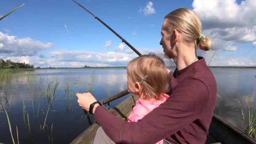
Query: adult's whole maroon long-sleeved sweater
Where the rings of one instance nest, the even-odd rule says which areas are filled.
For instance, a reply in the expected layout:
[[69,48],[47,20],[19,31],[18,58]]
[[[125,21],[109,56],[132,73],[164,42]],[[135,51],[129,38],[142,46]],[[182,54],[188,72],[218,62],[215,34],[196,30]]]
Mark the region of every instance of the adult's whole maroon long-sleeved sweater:
[[204,144],[216,101],[216,80],[205,60],[173,72],[170,97],[138,122],[128,123],[95,110],[95,120],[116,143],[153,144],[167,138],[173,144]]

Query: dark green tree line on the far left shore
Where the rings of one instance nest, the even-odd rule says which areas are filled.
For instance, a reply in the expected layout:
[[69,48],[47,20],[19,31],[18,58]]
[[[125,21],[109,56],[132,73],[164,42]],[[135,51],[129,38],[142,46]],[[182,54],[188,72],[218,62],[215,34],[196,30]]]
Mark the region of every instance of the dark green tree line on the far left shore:
[[34,68],[34,65],[25,64],[25,62],[13,62],[10,59],[4,61],[0,59],[0,69],[31,69]]

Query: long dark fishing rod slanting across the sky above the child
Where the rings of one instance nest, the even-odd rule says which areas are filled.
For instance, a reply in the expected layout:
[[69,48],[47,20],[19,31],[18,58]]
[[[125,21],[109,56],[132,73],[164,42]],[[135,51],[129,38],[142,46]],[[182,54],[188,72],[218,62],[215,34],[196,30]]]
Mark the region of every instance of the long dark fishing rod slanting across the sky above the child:
[[85,7],[83,7],[83,5],[80,5],[79,3],[77,3],[75,0],[72,0],[73,2],[75,2],[77,5],[79,5],[80,7],[82,7],[85,11],[87,11],[88,13],[90,13],[95,19],[99,20],[104,26],[106,26],[111,32],[113,32],[117,37],[119,37],[122,42],[124,42],[126,45],[128,45],[128,47],[130,47],[135,53],[137,53],[139,56],[141,56],[141,53],[139,51],[136,50],[136,48],[134,48],[130,43],[128,43],[123,37],[121,37],[120,35],[117,34],[117,32],[115,32],[111,27],[109,27],[107,24],[105,24],[103,21],[101,21],[101,19],[99,19],[97,16],[95,16],[93,13],[91,13],[91,11],[89,11],[88,9],[86,9]]

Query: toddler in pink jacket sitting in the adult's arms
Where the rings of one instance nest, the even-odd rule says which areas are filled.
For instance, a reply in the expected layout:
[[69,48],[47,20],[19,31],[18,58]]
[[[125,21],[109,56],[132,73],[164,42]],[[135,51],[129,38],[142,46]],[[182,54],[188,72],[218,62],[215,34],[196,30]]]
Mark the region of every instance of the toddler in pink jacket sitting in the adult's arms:
[[[153,53],[139,56],[127,67],[128,90],[140,98],[136,101],[128,122],[136,122],[166,101],[168,71],[163,60]],[[156,131],[157,132],[157,131]],[[163,144],[163,140],[157,142]]]

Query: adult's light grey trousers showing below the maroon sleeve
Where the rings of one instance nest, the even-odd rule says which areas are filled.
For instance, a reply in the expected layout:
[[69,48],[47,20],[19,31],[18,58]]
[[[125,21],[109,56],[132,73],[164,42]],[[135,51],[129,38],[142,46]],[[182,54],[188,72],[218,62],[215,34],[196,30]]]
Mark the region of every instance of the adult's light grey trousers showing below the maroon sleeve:
[[[93,144],[115,144],[114,141],[112,141],[107,134],[104,132],[104,130],[99,127],[96,136],[94,138]],[[164,139],[163,144],[171,144],[168,140]]]

